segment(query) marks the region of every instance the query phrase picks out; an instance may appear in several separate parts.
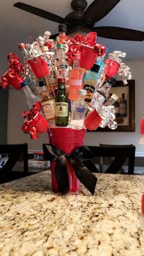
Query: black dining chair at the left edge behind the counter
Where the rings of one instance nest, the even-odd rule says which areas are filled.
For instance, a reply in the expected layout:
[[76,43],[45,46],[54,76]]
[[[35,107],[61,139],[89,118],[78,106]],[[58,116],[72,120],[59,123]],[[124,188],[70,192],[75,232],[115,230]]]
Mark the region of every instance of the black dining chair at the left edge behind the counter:
[[[8,159],[0,169],[0,183],[31,175],[28,170],[28,149],[24,144],[0,144],[0,155],[7,155]],[[20,160],[20,158],[22,160]],[[23,161],[23,170],[13,170],[18,161]],[[21,168],[21,167],[20,167]],[[34,173],[32,173],[34,174]]]

